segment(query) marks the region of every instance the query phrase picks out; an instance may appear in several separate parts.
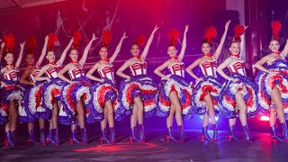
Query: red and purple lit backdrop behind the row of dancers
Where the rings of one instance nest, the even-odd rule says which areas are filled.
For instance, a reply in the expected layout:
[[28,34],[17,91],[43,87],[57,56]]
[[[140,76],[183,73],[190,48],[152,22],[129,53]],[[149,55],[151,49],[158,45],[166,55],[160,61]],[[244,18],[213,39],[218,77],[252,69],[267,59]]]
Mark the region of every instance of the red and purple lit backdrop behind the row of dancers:
[[[49,32],[55,32],[58,34],[59,40],[55,51],[59,58],[61,51],[65,49],[76,30],[80,31],[83,37],[79,47],[80,53],[93,32],[98,38],[101,38],[103,30],[111,30],[110,54],[121,39],[123,31],[126,31],[129,38],[123,42],[121,52],[113,63],[117,69],[131,57],[130,46],[139,34],[145,34],[148,39],[150,32],[157,24],[160,29],[156,32],[150,46],[147,61],[148,75],[153,76],[158,81],[159,77],[153,74],[153,70],[167,59],[167,32],[169,29],[179,30],[182,40],[184,26],[189,24],[187,48],[184,56],[184,63],[189,65],[195,58],[201,56],[203,32],[207,27],[216,26],[218,36],[214,41],[219,42],[225,22],[233,19],[229,28],[229,38],[233,34],[233,27],[239,22],[238,12],[225,11],[225,6],[225,0],[67,0],[61,3],[24,8],[14,13],[0,14],[0,36],[3,38],[6,33],[15,35],[17,42],[14,49],[15,56],[18,55],[20,42],[27,40],[31,35],[36,36],[35,55],[38,58],[45,35]],[[85,68],[92,67],[94,62],[99,60],[100,40],[95,40]],[[180,48],[181,45],[178,43],[177,49],[180,50]],[[69,62],[68,57],[67,62]],[[43,61],[42,65],[45,63],[47,62]],[[22,68],[25,66],[23,61]],[[127,73],[130,72],[127,70]],[[186,76],[193,81],[190,76]],[[119,83],[121,78],[116,76],[116,80]],[[128,123],[125,122],[127,128]],[[155,128],[166,127],[166,120],[163,118],[148,119],[146,123],[150,126],[156,126]],[[198,115],[184,125],[187,129],[202,128],[201,119]],[[227,129],[227,120],[223,120],[219,127],[220,129]]]

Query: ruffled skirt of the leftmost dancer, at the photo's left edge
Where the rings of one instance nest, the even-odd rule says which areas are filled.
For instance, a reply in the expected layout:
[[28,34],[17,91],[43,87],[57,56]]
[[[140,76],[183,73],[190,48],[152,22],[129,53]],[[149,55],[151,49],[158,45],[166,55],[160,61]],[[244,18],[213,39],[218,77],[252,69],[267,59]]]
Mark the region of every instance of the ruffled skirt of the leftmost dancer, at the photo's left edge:
[[5,86],[1,92],[0,102],[0,125],[8,122],[8,112],[10,101],[17,100],[17,104],[21,105],[23,100],[23,89],[19,86],[18,81],[2,79]]

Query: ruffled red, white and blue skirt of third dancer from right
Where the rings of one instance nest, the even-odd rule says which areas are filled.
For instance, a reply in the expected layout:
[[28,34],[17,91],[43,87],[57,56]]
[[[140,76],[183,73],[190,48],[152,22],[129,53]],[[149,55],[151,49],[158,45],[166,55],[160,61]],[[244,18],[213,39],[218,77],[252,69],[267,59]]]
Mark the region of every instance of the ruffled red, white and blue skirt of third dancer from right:
[[222,85],[220,85],[220,83],[217,81],[217,78],[214,76],[204,76],[202,81],[197,81],[194,84],[192,94],[192,105],[195,109],[195,113],[202,115],[207,111],[204,97],[210,93],[215,114],[220,116],[218,101],[221,87]]

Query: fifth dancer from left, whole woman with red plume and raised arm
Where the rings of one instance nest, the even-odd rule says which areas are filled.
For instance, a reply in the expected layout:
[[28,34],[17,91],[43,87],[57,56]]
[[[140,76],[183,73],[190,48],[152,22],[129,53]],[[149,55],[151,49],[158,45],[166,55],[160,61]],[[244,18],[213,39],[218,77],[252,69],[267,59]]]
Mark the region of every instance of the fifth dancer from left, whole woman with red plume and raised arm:
[[[127,38],[126,32],[123,33],[112,57],[108,58],[108,45],[111,38],[112,33],[110,31],[103,31],[103,43],[99,51],[101,60],[95,63],[94,67],[86,73],[86,76],[96,81],[91,88],[93,105],[98,112],[103,112],[100,142],[115,144],[114,111],[117,111],[120,103],[118,102],[118,91],[115,86],[112,62],[120,52],[123,40]],[[98,71],[101,78],[93,76],[94,71]],[[107,121],[109,124],[110,139],[106,137]]]

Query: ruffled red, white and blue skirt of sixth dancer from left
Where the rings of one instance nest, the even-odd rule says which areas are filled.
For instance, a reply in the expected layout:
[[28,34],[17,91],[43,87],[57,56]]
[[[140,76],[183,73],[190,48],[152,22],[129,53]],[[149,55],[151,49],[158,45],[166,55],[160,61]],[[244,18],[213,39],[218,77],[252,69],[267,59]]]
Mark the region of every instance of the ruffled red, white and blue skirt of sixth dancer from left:
[[130,81],[122,80],[120,85],[121,107],[116,119],[132,114],[133,99],[140,97],[144,107],[144,117],[148,118],[157,111],[157,84],[148,75],[132,76]]

